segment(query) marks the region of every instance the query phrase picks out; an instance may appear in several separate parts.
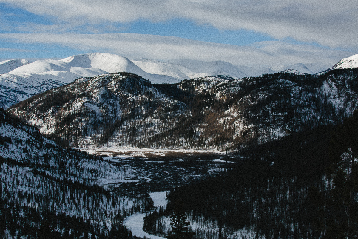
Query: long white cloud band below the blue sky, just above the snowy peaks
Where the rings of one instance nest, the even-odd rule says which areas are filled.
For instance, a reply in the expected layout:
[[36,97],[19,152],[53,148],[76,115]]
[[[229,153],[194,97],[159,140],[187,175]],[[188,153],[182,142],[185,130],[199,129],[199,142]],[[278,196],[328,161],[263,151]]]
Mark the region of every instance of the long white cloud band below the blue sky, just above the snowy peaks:
[[340,59],[353,54],[352,52],[279,41],[259,42],[250,46],[235,46],[179,37],[131,33],[6,33],[0,34],[0,38],[16,43],[60,44],[81,51],[107,52],[131,59],[222,60],[245,66],[273,66],[312,62],[337,63]]

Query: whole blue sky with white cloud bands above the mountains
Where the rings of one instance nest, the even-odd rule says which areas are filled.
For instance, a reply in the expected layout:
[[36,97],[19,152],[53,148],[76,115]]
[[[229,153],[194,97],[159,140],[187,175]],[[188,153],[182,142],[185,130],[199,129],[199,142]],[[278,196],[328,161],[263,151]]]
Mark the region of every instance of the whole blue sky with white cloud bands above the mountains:
[[334,64],[358,53],[357,23],[354,0],[0,0],[0,59]]

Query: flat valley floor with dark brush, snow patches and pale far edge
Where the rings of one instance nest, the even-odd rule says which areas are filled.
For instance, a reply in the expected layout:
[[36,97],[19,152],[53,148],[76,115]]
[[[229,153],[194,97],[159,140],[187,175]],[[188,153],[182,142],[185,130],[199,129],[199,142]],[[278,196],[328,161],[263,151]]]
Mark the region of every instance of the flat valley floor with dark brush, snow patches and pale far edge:
[[99,154],[121,168],[122,175],[108,180],[106,188],[126,195],[170,190],[175,186],[213,177],[222,171],[225,153],[209,150],[100,147],[79,148]]

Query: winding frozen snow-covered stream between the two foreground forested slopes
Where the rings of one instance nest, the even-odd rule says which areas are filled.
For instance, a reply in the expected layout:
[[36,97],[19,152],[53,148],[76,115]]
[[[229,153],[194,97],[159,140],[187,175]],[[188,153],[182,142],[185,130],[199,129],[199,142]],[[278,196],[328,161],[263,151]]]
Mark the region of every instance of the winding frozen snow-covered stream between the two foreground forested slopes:
[[[166,195],[165,194],[166,194],[166,192],[151,192],[151,193],[149,193],[149,196],[153,199],[155,207],[163,206],[165,208],[165,206],[166,206],[166,199],[165,199]],[[133,214],[132,216],[129,216],[123,222],[123,224],[127,228],[132,230],[133,235],[136,235],[139,237],[145,236],[146,238],[151,238],[151,239],[166,239],[164,237],[150,235],[150,234],[146,233],[145,231],[143,231],[144,216],[145,216],[145,213],[138,212],[136,214]]]

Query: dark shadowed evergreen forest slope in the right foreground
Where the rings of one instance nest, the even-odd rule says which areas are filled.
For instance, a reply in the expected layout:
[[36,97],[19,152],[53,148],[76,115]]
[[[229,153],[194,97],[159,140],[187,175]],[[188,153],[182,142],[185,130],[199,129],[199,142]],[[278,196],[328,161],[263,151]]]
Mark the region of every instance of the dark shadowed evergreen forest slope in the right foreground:
[[349,165],[344,153],[356,150],[357,129],[358,111],[343,125],[251,145],[243,158],[229,158],[236,163],[226,163],[221,176],[173,188],[166,209],[145,218],[145,229],[167,234],[163,219],[179,205],[192,222],[206,225],[194,229],[196,238],[238,236],[244,228],[255,238],[356,238],[358,165]]

